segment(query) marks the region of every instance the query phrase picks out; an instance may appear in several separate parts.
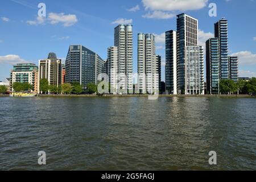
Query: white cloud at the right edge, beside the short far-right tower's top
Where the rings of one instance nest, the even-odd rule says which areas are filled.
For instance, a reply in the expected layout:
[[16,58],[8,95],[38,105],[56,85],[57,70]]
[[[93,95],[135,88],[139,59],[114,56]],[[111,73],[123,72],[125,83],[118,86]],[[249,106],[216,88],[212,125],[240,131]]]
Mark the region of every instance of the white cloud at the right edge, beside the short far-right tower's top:
[[240,52],[232,53],[231,56],[238,56],[239,64],[241,65],[256,64],[256,54],[254,55],[250,51],[240,51]]

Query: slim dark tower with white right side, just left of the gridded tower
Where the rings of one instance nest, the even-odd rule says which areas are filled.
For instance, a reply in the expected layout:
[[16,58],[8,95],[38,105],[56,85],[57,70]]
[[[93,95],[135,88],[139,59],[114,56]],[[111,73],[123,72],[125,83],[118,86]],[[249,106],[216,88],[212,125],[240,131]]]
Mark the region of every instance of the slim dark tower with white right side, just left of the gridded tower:
[[177,94],[176,31],[166,32],[166,92]]

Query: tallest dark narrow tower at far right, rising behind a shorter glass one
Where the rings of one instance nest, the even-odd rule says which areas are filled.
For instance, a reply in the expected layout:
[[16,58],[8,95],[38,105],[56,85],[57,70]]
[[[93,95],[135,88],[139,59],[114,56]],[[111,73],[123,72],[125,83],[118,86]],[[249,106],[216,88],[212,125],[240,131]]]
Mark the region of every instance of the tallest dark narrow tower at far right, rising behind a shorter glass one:
[[229,79],[228,20],[222,18],[214,24],[214,35],[219,41],[220,80],[227,80]]

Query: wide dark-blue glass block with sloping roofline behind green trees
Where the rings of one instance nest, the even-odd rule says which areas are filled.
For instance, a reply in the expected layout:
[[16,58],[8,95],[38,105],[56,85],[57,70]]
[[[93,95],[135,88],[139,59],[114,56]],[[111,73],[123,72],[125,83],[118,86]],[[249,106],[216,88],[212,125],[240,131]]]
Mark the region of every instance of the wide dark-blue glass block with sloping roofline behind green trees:
[[65,68],[65,82],[79,82],[85,90],[88,83],[97,84],[98,75],[104,71],[104,60],[84,46],[69,46]]

